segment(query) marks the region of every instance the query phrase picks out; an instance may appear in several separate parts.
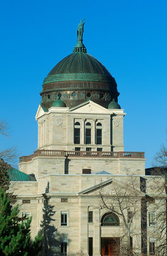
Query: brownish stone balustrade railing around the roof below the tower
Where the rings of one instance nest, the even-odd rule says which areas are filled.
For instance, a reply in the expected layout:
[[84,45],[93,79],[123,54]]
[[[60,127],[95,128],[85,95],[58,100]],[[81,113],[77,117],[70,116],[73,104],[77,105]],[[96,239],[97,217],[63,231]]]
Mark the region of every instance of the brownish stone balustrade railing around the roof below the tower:
[[28,162],[37,156],[52,157],[92,157],[92,158],[144,158],[144,152],[111,152],[111,151],[65,151],[65,150],[36,150],[30,156],[21,156],[19,162]]

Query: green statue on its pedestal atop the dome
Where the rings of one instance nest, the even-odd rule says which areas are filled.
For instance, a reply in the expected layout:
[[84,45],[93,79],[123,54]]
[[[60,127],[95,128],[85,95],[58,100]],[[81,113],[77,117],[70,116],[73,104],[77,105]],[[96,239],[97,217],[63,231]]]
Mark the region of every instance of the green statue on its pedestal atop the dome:
[[83,33],[84,33],[84,24],[85,24],[85,18],[84,21],[79,23],[79,26],[77,28],[77,43],[74,47],[74,53],[83,52],[86,53],[86,47],[84,46],[83,42]]

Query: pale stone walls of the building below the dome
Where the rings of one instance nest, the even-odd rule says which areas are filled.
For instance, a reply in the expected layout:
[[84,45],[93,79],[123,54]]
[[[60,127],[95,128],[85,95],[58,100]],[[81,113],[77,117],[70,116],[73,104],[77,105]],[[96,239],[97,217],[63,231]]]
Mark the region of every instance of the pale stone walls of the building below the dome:
[[[151,181],[144,175],[144,154],[123,151],[124,115],[123,110],[106,110],[91,101],[72,109],[51,107],[45,112],[41,106],[38,108],[38,150],[31,156],[22,156],[19,163],[20,171],[35,174],[37,181],[13,181],[12,186],[21,205],[21,214],[33,217],[33,236],[42,228],[46,198],[50,198],[50,225],[54,230],[54,233],[50,231],[50,255],[53,251],[57,255],[82,251],[85,255],[99,256],[103,255],[102,245],[106,247],[106,242],[112,243],[115,239],[121,246],[125,223],[118,216],[119,225],[103,225],[103,216],[111,210],[104,207],[100,199],[101,193],[108,196],[112,201],[108,206],[114,206],[115,212],[119,212],[118,203],[113,199],[118,188],[126,193],[137,191],[137,214],[133,217],[131,236],[132,247],[142,255],[141,202],[146,194],[141,190],[141,177],[149,183],[145,191],[148,194]],[[80,129],[79,144],[74,144],[76,122]],[[87,122],[91,124],[91,144],[85,144]],[[100,145],[96,144],[99,122],[102,124]],[[76,149],[78,147],[80,149]],[[91,151],[86,151],[87,147],[91,147]],[[102,151],[98,151],[98,147]],[[128,218],[125,209],[125,218]],[[109,255],[108,249],[104,250],[105,255]],[[149,242],[146,250],[149,255]]]

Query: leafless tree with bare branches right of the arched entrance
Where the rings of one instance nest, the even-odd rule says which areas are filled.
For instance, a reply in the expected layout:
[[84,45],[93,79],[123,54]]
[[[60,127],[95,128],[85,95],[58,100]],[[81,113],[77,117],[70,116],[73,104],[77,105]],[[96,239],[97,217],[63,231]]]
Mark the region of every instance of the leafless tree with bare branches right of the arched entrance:
[[[141,191],[139,177],[127,176],[124,183],[115,181],[108,188],[100,190],[100,206],[120,218],[123,233],[120,240],[120,255],[139,255],[141,242],[132,248],[133,237],[141,238],[141,225],[133,228],[133,223],[141,219],[141,206],[144,193]],[[138,221],[139,223],[139,221]]]

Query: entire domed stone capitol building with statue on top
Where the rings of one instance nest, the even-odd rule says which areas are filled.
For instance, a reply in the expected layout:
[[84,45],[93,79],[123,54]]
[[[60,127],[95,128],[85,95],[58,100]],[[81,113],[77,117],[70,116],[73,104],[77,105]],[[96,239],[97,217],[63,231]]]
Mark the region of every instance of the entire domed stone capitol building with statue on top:
[[163,177],[145,175],[144,152],[124,151],[117,82],[83,32],[81,21],[73,53],[43,81],[38,149],[20,157],[11,188],[32,236],[44,234],[42,255],[156,255]]

